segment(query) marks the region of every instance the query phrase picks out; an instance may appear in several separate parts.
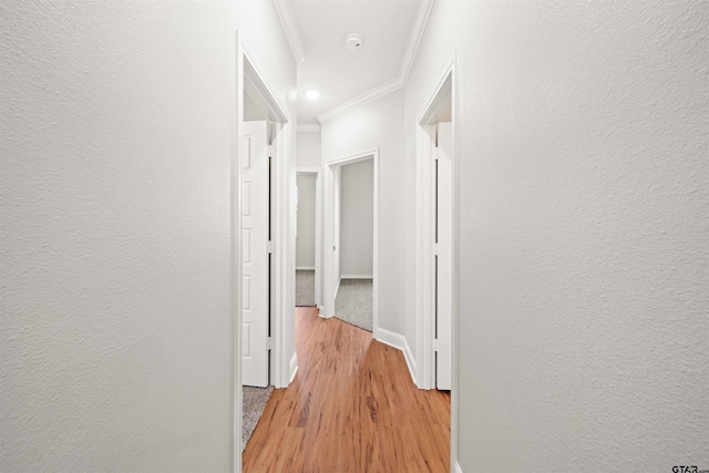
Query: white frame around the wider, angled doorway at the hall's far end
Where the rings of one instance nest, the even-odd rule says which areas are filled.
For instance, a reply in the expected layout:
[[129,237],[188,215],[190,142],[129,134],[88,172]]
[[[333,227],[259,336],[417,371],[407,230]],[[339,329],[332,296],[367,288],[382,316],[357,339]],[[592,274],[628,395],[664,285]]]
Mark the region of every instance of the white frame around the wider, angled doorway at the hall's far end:
[[364,151],[361,153],[330,160],[325,166],[323,195],[325,200],[325,270],[323,274],[323,309],[321,317],[330,318],[335,315],[335,296],[338,285],[335,281],[335,258],[330,248],[339,241],[335,241],[332,234],[332,222],[335,220],[335,212],[332,202],[332,192],[335,189],[333,179],[338,168],[346,164],[353,164],[359,161],[373,160],[373,187],[374,187],[374,208],[373,208],[373,247],[372,247],[372,336],[378,338],[379,335],[379,148]]

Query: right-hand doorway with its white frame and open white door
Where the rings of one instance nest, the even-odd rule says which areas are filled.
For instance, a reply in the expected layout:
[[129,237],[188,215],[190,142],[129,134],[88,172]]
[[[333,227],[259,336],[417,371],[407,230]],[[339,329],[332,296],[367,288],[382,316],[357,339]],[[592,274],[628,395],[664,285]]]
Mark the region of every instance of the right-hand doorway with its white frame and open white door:
[[458,90],[455,54],[417,122],[417,342],[420,389],[451,391],[458,463]]

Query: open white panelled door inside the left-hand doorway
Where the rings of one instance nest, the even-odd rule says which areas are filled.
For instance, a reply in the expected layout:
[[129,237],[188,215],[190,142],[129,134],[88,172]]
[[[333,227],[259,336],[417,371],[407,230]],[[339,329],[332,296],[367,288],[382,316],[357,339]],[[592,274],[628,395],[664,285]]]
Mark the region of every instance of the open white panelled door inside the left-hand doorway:
[[268,122],[244,122],[242,383],[266,388],[269,325]]

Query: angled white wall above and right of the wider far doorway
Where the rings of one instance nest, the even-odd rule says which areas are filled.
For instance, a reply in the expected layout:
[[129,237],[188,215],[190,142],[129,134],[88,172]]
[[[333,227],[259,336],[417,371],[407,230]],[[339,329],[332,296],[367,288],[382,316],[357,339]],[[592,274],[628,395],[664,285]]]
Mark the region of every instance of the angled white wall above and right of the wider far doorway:
[[407,195],[407,189],[413,188],[413,163],[403,154],[402,116],[400,90],[322,123],[321,130],[323,162],[380,148],[379,326],[401,335],[407,315],[415,310],[410,297],[415,290],[415,241],[410,238],[413,202]]

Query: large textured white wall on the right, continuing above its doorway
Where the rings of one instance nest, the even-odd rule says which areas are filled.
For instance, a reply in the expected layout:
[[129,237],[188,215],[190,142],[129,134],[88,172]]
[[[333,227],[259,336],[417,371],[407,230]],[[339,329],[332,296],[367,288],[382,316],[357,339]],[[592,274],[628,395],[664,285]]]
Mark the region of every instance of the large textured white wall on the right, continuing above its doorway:
[[458,50],[463,471],[709,464],[708,10],[435,2],[407,155]]

